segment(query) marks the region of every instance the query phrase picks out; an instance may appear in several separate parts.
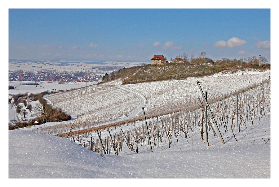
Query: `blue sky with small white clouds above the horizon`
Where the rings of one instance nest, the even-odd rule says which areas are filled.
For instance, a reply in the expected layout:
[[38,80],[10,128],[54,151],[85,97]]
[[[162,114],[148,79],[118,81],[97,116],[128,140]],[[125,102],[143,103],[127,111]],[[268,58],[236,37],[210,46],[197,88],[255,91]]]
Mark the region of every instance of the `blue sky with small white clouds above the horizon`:
[[270,9],[9,9],[9,58],[266,57]]

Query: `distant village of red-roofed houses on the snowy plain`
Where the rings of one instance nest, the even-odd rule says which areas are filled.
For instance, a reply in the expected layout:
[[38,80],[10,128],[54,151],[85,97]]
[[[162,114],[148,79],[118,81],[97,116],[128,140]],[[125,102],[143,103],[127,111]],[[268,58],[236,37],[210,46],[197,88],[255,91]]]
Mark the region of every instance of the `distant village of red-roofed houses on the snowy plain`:
[[102,80],[101,75],[84,73],[84,72],[61,72],[61,73],[45,73],[45,72],[14,72],[9,71],[9,81],[49,81],[49,82],[92,82]]

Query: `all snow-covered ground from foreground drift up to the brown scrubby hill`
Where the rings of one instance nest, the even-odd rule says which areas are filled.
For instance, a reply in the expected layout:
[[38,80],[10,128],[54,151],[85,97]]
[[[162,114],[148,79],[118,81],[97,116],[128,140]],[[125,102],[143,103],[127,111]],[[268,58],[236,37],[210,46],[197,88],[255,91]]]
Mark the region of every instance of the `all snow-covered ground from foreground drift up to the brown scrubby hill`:
[[[210,123],[205,122],[196,80],[207,91],[220,135],[210,114]],[[270,71],[130,87],[119,83],[47,96],[51,104],[71,113],[73,120],[10,130],[9,178],[271,178]],[[147,119],[153,151],[144,120],[119,123],[142,117],[141,104],[147,116],[152,112],[159,116]],[[136,109],[137,113],[129,115]],[[9,118],[10,113],[14,115],[9,112]],[[86,126],[85,117],[96,118],[95,113],[108,117],[99,125],[119,124],[99,129],[100,138],[95,130],[76,133],[98,126]],[[46,135],[62,133],[79,115],[73,134]]]

